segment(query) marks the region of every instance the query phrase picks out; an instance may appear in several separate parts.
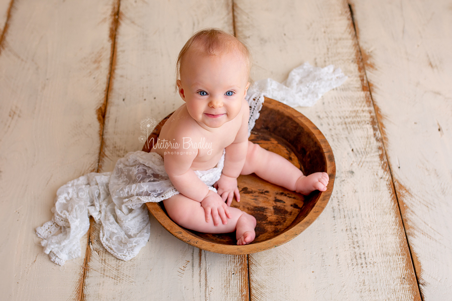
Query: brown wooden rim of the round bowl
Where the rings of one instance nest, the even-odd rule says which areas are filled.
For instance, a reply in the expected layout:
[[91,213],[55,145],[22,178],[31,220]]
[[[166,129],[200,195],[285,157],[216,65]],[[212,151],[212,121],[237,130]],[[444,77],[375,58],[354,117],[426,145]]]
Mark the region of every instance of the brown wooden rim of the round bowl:
[[304,116],[297,110],[267,97],[265,98],[264,106],[267,106],[268,108],[273,110],[283,111],[286,115],[291,115],[295,120],[297,120],[297,123],[304,124],[312,132],[314,137],[317,138],[326,159],[326,172],[329,176],[329,182],[326,191],[320,193],[317,202],[315,203],[309,214],[303,220],[292,226],[290,229],[285,230],[268,240],[243,246],[221,244],[205,240],[173,222],[158,203],[146,203],[151,214],[172,235],[192,246],[210,252],[235,255],[251,254],[277,247],[292,240],[301,232],[303,232],[310,224],[312,224],[323,211],[323,209],[325,209],[333,190],[336,172],[334,157],[329,143],[326,141],[326,138],[323,136],[320,130],[306,116]]

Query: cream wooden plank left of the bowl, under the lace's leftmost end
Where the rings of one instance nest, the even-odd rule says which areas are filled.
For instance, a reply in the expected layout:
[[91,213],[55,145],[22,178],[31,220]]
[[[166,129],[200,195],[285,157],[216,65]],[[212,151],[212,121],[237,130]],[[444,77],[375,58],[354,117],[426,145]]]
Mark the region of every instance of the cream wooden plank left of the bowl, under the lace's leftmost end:
[[79,299],[86,237],[82,257],[60,267],[34,229],[61,185],[97,168],[110,6],[16,1],[11,11],[0,54],[2,298]]

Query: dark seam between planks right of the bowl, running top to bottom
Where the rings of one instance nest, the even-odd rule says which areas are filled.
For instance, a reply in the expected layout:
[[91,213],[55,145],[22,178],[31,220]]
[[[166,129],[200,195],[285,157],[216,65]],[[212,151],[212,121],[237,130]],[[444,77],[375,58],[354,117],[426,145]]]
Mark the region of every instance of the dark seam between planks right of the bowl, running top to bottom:
[[[378,114],[376,113],[378,108],[377,108],[377,106],[375,104],[374,97],[372,96],[372,91],[371,91],[371,88],[370,88],[369,79],[367,77],[366,64],[364,63],[363,53],[361,51],[360,40],[359,40],[359,37],[358,37],[358,31],[357,31],[357,26],[356,26],[355,15],[354,15],[354,12],[353,12],[353,4],[351,2],[347,2],[347,5],[349,6],[350,16],[352,18],[353,29],[355,31],[355,39],[356,39],[356,43],[357,43],[357,47],[358,47],[358,51],[359,51],[359,55],[360,55],[360,60],[361,60],[361,63],[363,65],[363,73],[364,73],[364,77],[365,77],[364,79],[365,79],[365,83],[367,85],[367,89],[369,91],[369,96],[370,96],[370,100],[372,102],[372,106],[374,108],[375,118],[377,119],[378,130],[379,130],[380,134],[382,135],[382,137],[384,137],[383,133],[382,133],[381,125],[380,125],[380,123],[382,121],[379,119]],[[388,162],[388,170],[389,170],[389,175],[391,177],[392,189],[394,191],[394,196],[395,196],[395,198],[397,200],[397,208],[399,209],[399,215],[400,215],[400,219],[402,221],[403,232],[405,234],[405,240],[406,240],[406,243],[408,245],[408,250],[409,250],[410,260],[411,260],[411,266],[413,268],[414,276],[415,276],[416,282],[417,282],[418,293],[419,293],[419,296],[420,296],[421,300],[423,301],[421,289],[420,289],[420,286],[419,286],[419,279],[418,279],[418,276],[417,276],[417,273],[416,273],[416,269],[415,269],[415,265],[414,265],[414,261],[413,261],[412,250],[411,250],[410,243],[408,241],[408,235],[406,233],[405,222],[403,220],[402,210],[400,208],[400,202],[399,202],[399,198],[398,198],[398,195],[397,195],[397,190],[396,190],[396,187],[395,187],[395,184],[394,184],[393,172],[392,172],[392,169],[391,169],[391,165],[389,164],[389,160],[388,160],[388,156],[387,156],[387,152],[386,152],[386,145],[385,145],[384,139],[382,139],[382,144],[383,144],[384,156],[386,158],[386,161]]]

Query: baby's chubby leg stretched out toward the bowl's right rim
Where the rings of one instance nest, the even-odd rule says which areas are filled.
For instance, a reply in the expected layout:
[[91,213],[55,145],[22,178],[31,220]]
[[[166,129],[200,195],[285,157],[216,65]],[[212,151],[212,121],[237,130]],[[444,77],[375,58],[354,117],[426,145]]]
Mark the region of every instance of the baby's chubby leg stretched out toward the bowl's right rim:
[[270,183],[304,195],[314,190],[325,191],[328,185],[328,174],[313,173],[305,176],[285,158],[269,152],[258,144],[248,142],[247,159],[241,174],[252,173]]

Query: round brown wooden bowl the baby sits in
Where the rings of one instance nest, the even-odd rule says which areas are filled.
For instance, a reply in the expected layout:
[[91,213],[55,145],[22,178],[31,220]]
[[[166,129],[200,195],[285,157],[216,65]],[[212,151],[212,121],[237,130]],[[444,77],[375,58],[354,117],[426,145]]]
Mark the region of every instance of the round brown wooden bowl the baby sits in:
[[[149,136],[157,141],[167,116]],[[276,100],[266,98],[250,140],[277,153],[301,168],[305,175],[326,172],[329,183],[325,192],[315,191],[308,196],[270,184],[256,175],[238,179],[240,203],[232,206],[252,214],[257,220],[256,239],[238,246],[235,232],[206,234],[185,229],[166,214],[163,203],[147,203],[152,215],[171,234],[180,240],[215,253],[250,254],[274,248],[296,237],[323,211],[333,190],[334,156],[323,134],[304,115]],[[143,150],[150,151],[145,143]],[[152,148],[152,145],[151,145]],[[265,163],[263,163],[265,164]]]

